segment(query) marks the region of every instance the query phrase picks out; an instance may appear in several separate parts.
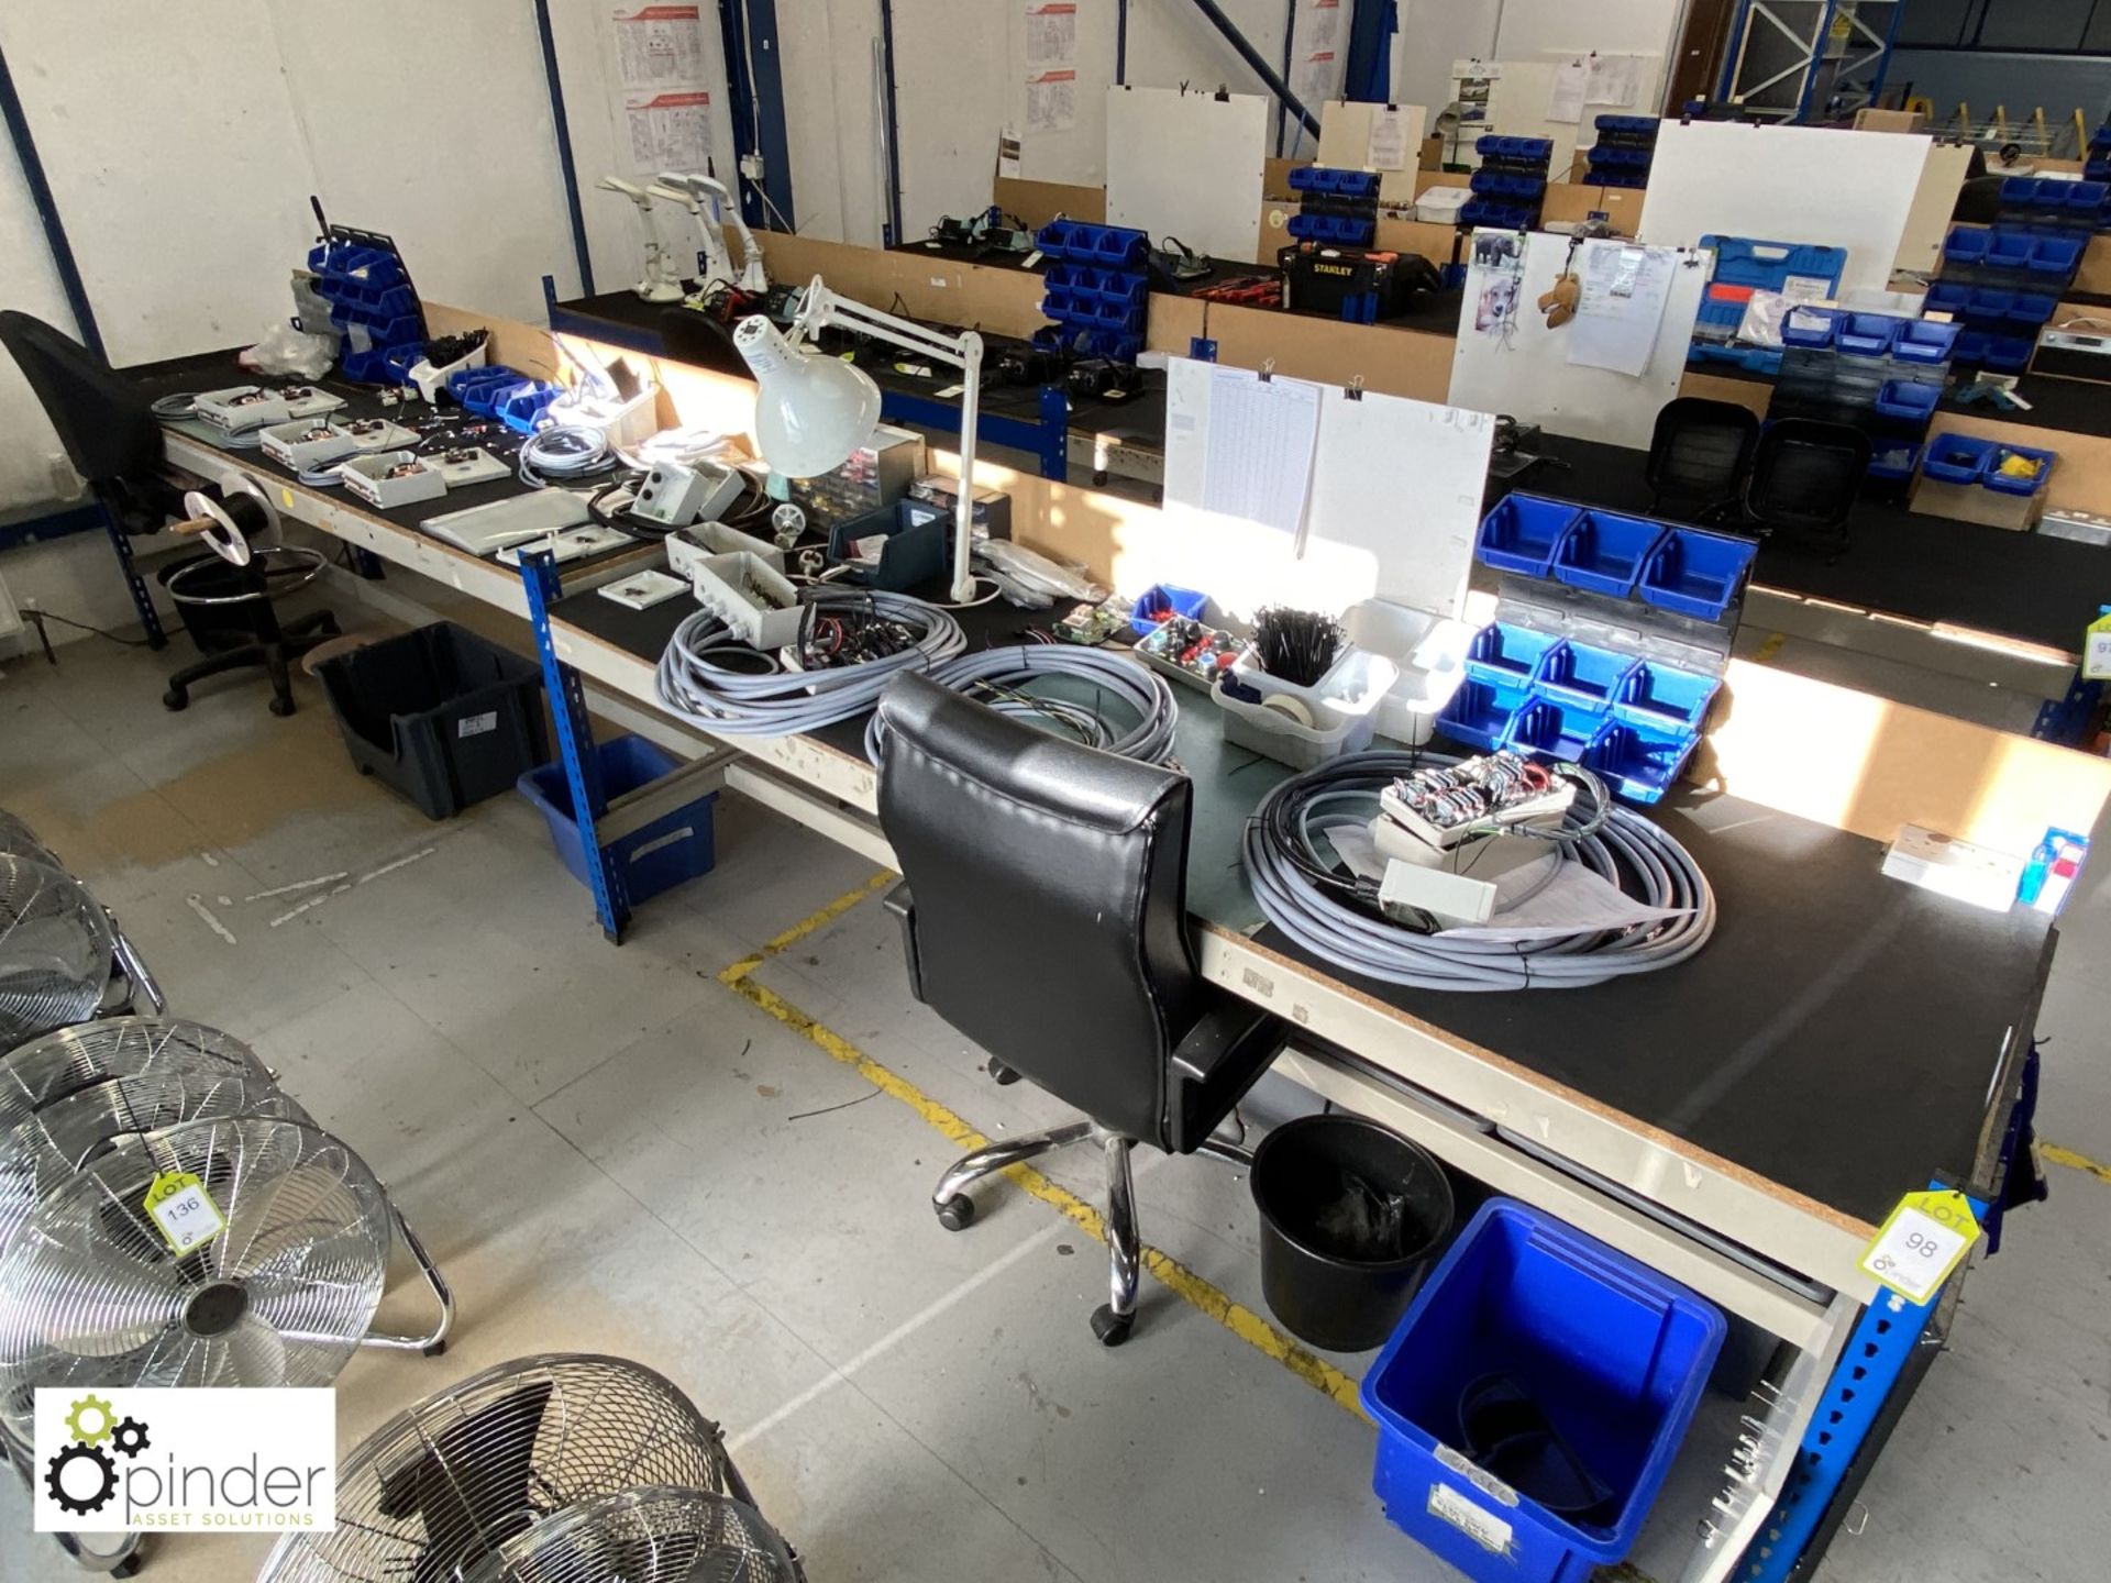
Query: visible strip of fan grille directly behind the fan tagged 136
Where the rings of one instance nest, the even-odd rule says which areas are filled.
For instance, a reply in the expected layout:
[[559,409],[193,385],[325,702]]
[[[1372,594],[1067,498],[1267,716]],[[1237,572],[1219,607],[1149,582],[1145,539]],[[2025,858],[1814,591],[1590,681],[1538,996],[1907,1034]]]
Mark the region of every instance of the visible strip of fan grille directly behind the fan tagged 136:
[[44,1195],[120,1138],[220,1117],[308,1121],[272,1083],[217,1062],[209,1072],[163,1070],[91,1083],[17,1121],[0,1133],[0,1247]]

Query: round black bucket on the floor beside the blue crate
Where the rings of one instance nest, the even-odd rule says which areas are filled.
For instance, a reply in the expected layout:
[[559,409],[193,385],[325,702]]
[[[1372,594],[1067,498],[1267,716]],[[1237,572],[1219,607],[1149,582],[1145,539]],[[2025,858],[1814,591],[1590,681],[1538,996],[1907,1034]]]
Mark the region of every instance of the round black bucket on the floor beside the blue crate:
[[1364,1117],[1298,1117],[1260,1140],[1252,1182],[1283,1330],[1330,1353],[1385,1342],[1452,1231],[1435,1157]]

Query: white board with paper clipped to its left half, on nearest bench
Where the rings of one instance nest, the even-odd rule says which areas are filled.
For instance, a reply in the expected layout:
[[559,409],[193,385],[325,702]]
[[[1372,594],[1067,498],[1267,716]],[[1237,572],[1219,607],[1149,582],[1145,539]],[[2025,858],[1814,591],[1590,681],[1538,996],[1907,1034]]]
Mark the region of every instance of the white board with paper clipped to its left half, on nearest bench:
[[1347,610],[1359,599],[1459,616],[1495,420],[1429,401],[1315,390],[1319,435],[1296,534],[1201,507],[1216,363],[1165,363],[1165,517],[1123,545],[1123,593],[1148,583],[1203,589],[1237,616],[1269,604]]

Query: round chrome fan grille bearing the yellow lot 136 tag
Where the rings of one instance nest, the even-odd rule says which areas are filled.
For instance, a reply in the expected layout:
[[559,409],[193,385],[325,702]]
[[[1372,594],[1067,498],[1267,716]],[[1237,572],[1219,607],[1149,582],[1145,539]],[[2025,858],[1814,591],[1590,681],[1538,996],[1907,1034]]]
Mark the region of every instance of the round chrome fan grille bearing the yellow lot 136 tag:
[[[177,1256],[144,1199],[205,1182],[226,1231]],[[118,1142],[0,1250],[0,1423],[38,1387],[329,1385],[380,1307],[388,1201],[342,1142],[291,1121],[192,1121]]]

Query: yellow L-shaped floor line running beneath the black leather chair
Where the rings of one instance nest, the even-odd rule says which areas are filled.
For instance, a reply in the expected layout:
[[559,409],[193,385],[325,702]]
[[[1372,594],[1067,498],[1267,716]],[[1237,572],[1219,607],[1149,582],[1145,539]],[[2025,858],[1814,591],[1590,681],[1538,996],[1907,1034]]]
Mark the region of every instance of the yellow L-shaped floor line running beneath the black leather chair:
[[[893,874],[876,874],[857,891],[836,897],[813,916],[802,918],[800,922],[792,924],[785,933],[771,939],[758,954],[743,956],[739,962],[733,962],[733,967],[728,967],[718,975],[718,981],[724,984],[743,1000],[747,1000],[758,1011],[764,1011],[777,1022],[781,1022],[785,1028],[796,1032],[800,1038],[804,1038],[809,1045],[819,1049],[830,1060],[849,1066],[853,1072],[866,1079],[866,1083],[885,1093],[889,1100],[895,1100],[897,1104],[914,1110],[916,1117],[927,1127],[939,1133],[946,1142],[958,1146],[963,1155],[973,1152],[984,1144],[988,1144],[990,1140],[984,1138],[980,1131],[975,1131],[975,1127],[971,1127],[961,1114],[933,1100],[929,1093],[918,1089],[901,1074],[889,1070],[887,1066],[880,1066],[849,1038],[815,1022],[775,990],[768,990],[754,981],[754,971],[762,967],[762,962],[766,962],[771,956],[781,952],[785,946],[811,935],[825,922],[840,918],[844,912],[855,908],[866,897],[887,889],[889,884],[893,884],[893,878],[895,878]],[[1032,1169],[1030,1165],[1013,1165],[1005,1169],[1003,1176],[1009,1176],[1028,1195],[1053,1207],[1058,1214],[1070,1220],[1079,1231],[1083,1231],[1093,1241],[1100,1243],[1106,1241],[1106,1222],[1100,1218],[1100,1212],[1096,1207],[1085,1203],[1085,1199],[1051,1182],[1047,1176]],[[1172,1254],[1163,1254],[1146,1243],[1142,1247],[1142,1264],[1146,1271],[1150,1271],[1150,1275],[1159,1281],[1159,1285],[1178,1296],[1182,1302],[1191,1304],[1199,1313],[1205,1313],[1210,1319],[1220,1323],[1224,1330],[1229,1330],[1233,1336],[1237,1336],[1248,1347],[1258,1351],[1262,1357],[1271,1357],[1277,1363],[1281,1363],[1286,1370],[1296,1374],[1309,1387],[1313,1387],[1324,1397],[1334,1401],[1334,1406],[1343,1408],[1345,1412],[1353,1412],[1359,1418],[1364,1416],[1364,1404],[1357,1395],[1357,1382],[1351,1380],[1332,1363],[1328,1363],[1324,1357],[1317,1357],[1315,1353],[1307,1351],[1290,1336],[1286,1336],[1281,1330],[1277,1330],[1273,1323],[1269,1323],[1264,1317],[1243,1307],[1241,1302],[1235,1302],[1231,1296],[1220,1292],[1216,1285],[1205,1281],[1201,1275],[1191,1271]]]

